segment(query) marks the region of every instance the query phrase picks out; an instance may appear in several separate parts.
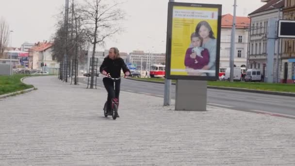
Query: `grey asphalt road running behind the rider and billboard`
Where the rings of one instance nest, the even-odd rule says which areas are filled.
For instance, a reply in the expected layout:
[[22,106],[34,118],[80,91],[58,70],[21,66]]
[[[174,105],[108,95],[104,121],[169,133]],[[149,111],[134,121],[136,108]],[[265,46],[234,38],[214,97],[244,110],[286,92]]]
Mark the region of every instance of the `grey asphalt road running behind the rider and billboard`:
[[[86,78],[82,77],[80,82],[87,83]],[[98,86],[103,87],[102,77],[98,77]],[[171,87],[171,98],[175,99],[175,85]],[[160,83],[123,79],[121,90],[164,97],[164,84]],[[247,112],[274,113],[295,118],[295,97],[208,89],[207,98],[208,105],[212,106]]]

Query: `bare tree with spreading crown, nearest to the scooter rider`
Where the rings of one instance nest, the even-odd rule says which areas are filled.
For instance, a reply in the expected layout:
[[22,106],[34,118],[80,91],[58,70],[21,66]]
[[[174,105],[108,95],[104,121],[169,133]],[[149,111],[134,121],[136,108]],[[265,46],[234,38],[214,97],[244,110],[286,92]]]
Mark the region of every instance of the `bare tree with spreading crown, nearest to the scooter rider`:
[[[88,41],[93,44],[92,59],[95,58],[95,50],[98,45],[104,45],[106,38],[122,30],[118,21],[124,18],[119,2],[110,0],[84,0],[79,13],[83,20],[83,29]],[[91,83],[94,84],[94,61],[91,64]]]

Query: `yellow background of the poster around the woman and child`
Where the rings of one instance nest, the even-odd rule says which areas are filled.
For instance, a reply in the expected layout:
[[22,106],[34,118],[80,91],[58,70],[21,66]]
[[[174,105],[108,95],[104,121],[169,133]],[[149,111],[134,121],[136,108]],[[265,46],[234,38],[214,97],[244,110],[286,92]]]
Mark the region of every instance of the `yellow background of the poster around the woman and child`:
[[[218,12],[218,8],[174,6],[173,10],[194,10]],[[207,21],[217,39],[218,19],[172,18],[171,69],[185,69],[184,58],[191,44],[191,34],[196,31],[200,21]],[[185,71],[171,71],[171,75],[187,76]]]

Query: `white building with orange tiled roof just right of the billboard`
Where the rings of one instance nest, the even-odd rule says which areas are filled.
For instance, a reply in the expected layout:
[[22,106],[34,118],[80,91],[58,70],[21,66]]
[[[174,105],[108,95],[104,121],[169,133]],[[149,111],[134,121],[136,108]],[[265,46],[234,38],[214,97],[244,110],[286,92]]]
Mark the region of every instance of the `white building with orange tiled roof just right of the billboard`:
[[[229,66],[232,21],[233,16],[230,14],[223,15],[221,18],[220,67]],[[250,19],[236,17],[236,22],[234,65],[246,67]]]

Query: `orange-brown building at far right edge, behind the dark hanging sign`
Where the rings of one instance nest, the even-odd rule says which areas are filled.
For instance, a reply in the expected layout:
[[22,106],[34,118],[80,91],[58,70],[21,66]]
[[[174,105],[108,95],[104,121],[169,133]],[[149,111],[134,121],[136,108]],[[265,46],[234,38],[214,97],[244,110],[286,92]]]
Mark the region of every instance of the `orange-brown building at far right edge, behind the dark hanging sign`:
[[[295,0],[285,0],[283,19],[295,20]],[[282,39],[281,83],[295,83],[295,39]]]

